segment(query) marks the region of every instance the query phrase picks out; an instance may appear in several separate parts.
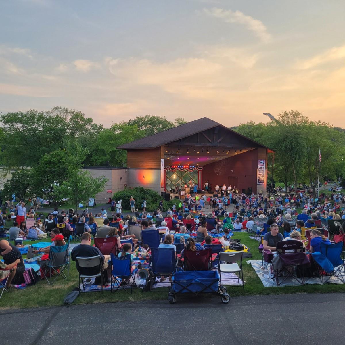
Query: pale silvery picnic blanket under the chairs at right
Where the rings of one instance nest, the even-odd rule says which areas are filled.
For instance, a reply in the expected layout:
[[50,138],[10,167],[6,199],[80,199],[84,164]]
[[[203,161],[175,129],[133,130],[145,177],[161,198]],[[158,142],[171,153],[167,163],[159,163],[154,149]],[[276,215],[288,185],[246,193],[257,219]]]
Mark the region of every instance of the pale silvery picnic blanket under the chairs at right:
[[[296,280],[292,277],[287,277],[286,280],[284,280],[282,284],[277,286],[275,279],[273,279],[272,276],[269,275],[269,272],[265,269],[262,269],[262,260],[248,260],[247,264],[252,265],[252,267],[255,270],[255,273],[260,278],[264,287],[300,286],[300,284],[296,282]],[[344,271],[343,271],[343,274],[344,274]],[[342,284],[342,282],[336,277],[329,278],[327,280],[327,283]],[[319,278],[308,278],[308,277],[305,278],[305,284],[323,285]]]

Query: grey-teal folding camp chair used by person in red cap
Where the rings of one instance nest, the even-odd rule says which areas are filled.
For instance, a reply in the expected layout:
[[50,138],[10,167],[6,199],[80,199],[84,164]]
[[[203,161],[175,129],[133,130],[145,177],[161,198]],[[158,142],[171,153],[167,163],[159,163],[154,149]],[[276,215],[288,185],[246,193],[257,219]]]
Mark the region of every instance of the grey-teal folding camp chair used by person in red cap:
[[[40,261],[41,274],[46,278],[49,285],[61,276],[68,279],[69,274],[69,250],[68,244],[64,246],[51,246],[49,251],[49,259]],[[67,276],[65,275],[67,269]],[[42,278],[43,278],[42,277]]]

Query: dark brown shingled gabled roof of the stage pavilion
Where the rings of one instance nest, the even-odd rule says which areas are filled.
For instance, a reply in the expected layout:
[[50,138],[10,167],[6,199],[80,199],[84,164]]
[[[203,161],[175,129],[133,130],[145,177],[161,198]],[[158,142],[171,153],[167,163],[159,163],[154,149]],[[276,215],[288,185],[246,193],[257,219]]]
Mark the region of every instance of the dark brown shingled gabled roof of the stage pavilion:
[[[197,119],[191,122],[187,122],[184,125],[180,125],[177,127],[166,129],[162,132],[156,133],[154,135],[150,135],[145,138],[141,138],[132,142],[129,142],[128,144],[121,145],[118,147],[118,149],[146,149],[146,148],[157,148],[166,144],[169,144],[170,142],[180,140],[182,138],[194,135],[196,133],[205,131],[207,129],[221,126],[223,128],[226,128],[229,132],[233,132],[234,134],[241,136],[243,138],[246,138],[248,140],[251,140],[242,134],[239,134],[235,132],[232,129],[229,129],[221,124],[219,124],[216,121],[213,121],[207,117],[203,117],[201,119]],[[264,147],[266,146],[259,144],[258,142],[253,141],[253,143],[256,144],[257,147]],[[268,149],[268,148],[267,148]]]

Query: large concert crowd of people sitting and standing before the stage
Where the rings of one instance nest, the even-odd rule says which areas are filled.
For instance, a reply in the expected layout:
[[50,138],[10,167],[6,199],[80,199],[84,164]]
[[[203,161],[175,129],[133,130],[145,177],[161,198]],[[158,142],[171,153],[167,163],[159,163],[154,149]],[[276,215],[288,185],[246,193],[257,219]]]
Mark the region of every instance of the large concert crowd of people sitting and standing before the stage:
[[[37,215],[35,207],[27,210],[23,202],[11,206],[8,213],[3,209],[3,214],[0,212],[0,222],[11,222],[12,226],[9,229],[9,240],[0,241],[0,254],[4,259],[4,263],[1,263],[0,278],[6,273],[9,275],[7,286],[23,282],[23,259],[11,241],[18,238],[36,240],[49,235],[52,245],[63,246],[70,236],[75,234],[77,225],[83,228],[83,234],[80,236],[81,244],[72,250],[72,260],[77,256],[100,255],[103,268],[107,270],[108,282],[111,282],[107,264],[109,258],[91,245],[92,236],[97,237],[100,233],[105,234],[104,237],[116,237],[118,248],[121,248],[119,255],[124,256],[132,253],[140,241],[140,238],[127,233],[128,226],[140,226],[142,231],[156,230],[163,238],[159,247],[176,250],[175,244],[184,243],[184,249],[180,253],[183,257],[186,250],[203,250],[207,246],[224,244],[235,231],[254,232],[258,224],[265,223],[269,226],[269,231],[263,237],[263,247],[274,251],[276,244],[282,240],[302,240],[301,228],[323,227],[328,219],[345,219],[345,196],[339,193],[320,195],[319,198],[303,193],[267,197],[253,193],[236,194],[231,190],[223,193],[223,196],[214,197],[204,194],[199,197],[195,193],[193,197],[187,195],[184,200],[178,200],[166,211],[165,216],[162,202],[151,215],[146,211],[145,200],[145,203],[141,203],[142,211],[139,213],[136,201],[131,197],[128,205],[135,215],[124,216],[121,214],[122,200],[115,203],[113,200],[109,201],[110,219],[104,208],[97,214],[92,214],[88,208],[81,214],[76,214],[73,209],[59,211],[56,208],[47,217]],[[297,208],[302,208],[302,211],[297,213]],[[118,224],[114,226],[114,223]],[[279,232],[279,228],[283,228],[283,233]],[[214,233],[221,234],[218,242],[212,237]],[[329,242],[317,229],[311,230],[310,237],[312,252],[319,250],[321,241]],[[121,240],[128,239],[131,239],[132,244],[121,244]],[[145,246],[146,250],[150,249],[147,245],[141,246]],[[39,252],[44,254],[43,259],[48,259],[50,246],[37,249],[35,254]],[[133,260],[132,256],[131,259]]]

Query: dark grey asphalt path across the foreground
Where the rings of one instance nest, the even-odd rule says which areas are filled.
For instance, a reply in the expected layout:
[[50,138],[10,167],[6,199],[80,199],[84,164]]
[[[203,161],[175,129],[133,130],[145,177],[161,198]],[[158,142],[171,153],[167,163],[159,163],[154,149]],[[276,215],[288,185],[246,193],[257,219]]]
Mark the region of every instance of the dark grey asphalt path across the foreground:
[[178,298],[0,312],[1,344],[343,344],[344,294]]

